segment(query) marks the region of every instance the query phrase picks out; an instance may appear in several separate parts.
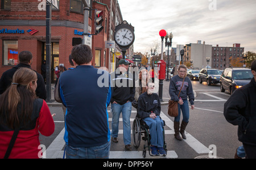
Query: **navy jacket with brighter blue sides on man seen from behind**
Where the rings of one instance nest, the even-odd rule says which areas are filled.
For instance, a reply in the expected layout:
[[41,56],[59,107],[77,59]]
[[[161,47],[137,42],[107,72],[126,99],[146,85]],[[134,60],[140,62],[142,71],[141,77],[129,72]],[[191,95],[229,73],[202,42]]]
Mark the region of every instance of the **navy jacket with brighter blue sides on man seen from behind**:
[[112,97],[109,73],[91,65],[79,65],[63,72],[59,83],[61,101],[67,106],[65,142],[73,147],[107,143],[110,140],[107,107]]

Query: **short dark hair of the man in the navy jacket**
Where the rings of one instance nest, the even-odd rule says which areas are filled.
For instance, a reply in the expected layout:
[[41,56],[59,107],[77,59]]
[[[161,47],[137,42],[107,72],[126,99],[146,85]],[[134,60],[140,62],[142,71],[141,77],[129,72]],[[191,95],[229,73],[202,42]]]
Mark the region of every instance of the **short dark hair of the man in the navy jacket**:
[[77,65],[88,64],[92,61],[92,50],[88,45],[79,44],[73,47],[71,56]]

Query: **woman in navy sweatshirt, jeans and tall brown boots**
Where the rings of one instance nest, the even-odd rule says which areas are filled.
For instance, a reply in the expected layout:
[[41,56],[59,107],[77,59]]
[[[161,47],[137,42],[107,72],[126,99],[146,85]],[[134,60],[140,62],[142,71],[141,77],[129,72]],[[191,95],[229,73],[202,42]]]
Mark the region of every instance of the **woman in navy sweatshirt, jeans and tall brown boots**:
[[[178,110],[179,115],[174,118],[174,131],[175,131],[175,138],[177,140],[187,139],[185,136],[185,128],[188,125],[189,120],[189,107],[188,107],[188,99],[191,105],[191,109],[195,108],[194,100],[195,96],[193,94],[193,88],[191,81],[188,77],[186,77],[187,74],[187,67],[185,65],[180,65],[178,68],[178,74],[171,78],[170,86],[169,86],[169,93],[171,96],[171,99],[178,102]],[[184,82],[183,82],[184,81]],[[181,86],[183,84],[183,88],[181,89]],[[181,89],[181,92],[180,92]],[[178,97],[178,94],[180,92],[180,96]],[[188,99],[187,99],[188,98]],[[183,120],[180,125],[180,114],[182,111]],[[182,138],[180,137],[180,134]]]

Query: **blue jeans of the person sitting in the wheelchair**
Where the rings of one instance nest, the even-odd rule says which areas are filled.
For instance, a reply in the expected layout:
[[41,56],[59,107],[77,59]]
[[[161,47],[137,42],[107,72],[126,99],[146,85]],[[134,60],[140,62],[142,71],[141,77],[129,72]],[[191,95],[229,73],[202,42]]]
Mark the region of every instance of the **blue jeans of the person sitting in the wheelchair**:
[[163,120],[159,116],[156,116],[155,119],[144,118],[143,121],[150,128],[150,144],[152,146],[163,147]]

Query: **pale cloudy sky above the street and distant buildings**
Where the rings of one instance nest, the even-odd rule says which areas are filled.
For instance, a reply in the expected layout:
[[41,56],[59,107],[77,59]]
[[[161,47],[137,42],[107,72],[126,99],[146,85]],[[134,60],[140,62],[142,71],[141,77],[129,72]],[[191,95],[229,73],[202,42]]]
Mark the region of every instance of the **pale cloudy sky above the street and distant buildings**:
[[118,0],[123,20],[135,30],[134,52],[150,53],[160,30],[172,32],[172,47],[197,43],[256,52],[255,0]]

